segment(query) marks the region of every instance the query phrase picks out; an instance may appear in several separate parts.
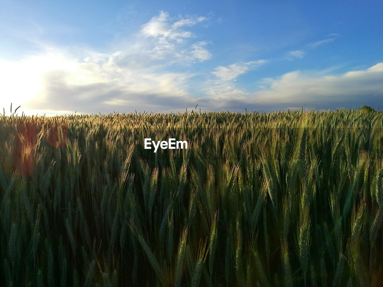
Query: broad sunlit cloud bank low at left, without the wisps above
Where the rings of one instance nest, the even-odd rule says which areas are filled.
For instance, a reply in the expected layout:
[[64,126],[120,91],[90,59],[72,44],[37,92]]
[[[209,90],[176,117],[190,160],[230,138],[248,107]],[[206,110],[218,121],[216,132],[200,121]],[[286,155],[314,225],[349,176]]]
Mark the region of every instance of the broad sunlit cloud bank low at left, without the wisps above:
[[121,53],[89,51],[88,57],[79,61],[55,49],[20,62],[1,60],[0,108],[13,102],[22,106],[20,113],[96,113],[129,107],[143,110],[151,105],[153,110],[161,110],[189,101],[191,96],[184,86],[193,74],[118,65]]

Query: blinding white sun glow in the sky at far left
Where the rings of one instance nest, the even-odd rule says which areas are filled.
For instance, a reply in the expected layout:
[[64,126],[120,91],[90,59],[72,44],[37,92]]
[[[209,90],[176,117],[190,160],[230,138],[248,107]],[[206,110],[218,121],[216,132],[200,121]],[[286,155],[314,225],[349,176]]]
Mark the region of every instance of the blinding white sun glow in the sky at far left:
[[[47,50],[51,51],[29,56],[19,62],[0,59],[0,109],[5,108],[6,114],[10,112],[11,103],[14,107],[23,107],[20,113],[34,114],[37,110],[28,109],[28,106],[33,101],[44,101],[48,96],[49,83],[52,81],[50,76],[59,75],[57,80],[69,86],[105,82],[100,77],[100,65],[80,62],[53,49]],[[58,114],[66,112],[57,111]]]

